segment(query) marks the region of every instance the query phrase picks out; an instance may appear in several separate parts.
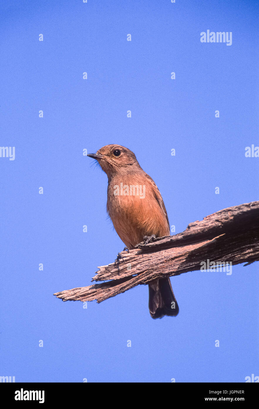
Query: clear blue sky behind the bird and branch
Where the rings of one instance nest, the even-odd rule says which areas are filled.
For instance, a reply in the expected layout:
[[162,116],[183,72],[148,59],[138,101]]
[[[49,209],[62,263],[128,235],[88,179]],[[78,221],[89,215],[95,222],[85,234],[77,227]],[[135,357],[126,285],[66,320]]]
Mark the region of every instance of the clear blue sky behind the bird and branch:
[[[15,160],[0,157],[0,375],[16,382],[259,375],[258,263],[234,266],[229,276],[172,277],[176,318],[151,319],[143,285],[87,309],[53,296],[90,285],[97,266],[124,247],[106,215],[106,175],[84,148],[130,148],[176,233],[258,200],[259,158],[245,157],[246,146],[259,146],[258,2],[27,0],[1,8],[0,145],[15,146]],[[207,29],[231,31],[232,45],[201,43]]]

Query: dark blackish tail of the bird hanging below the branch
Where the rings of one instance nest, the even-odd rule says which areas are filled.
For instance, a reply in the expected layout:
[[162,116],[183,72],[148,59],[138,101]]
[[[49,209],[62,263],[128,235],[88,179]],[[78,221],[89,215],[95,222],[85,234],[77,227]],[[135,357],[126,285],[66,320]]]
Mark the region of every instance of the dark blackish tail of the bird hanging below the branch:
[[164,315],[175,317],[179,307],[172,290],[170,278],[159,279],[148,284],[149,312],[152,318],[162,318]]

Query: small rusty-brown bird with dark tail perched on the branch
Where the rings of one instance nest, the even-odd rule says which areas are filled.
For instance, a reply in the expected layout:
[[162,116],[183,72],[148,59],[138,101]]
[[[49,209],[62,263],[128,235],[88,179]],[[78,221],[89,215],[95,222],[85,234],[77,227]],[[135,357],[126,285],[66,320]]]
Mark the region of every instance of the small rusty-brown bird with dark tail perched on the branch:
[[[87,156],[96,159],[108,176],[107,212],[122,241],[128,247],[144,236],[170,236],[166,208],[157,185],[139,166],[133,152],[120,145],[106,145]],[[175,317],[179,307],[170,279],[148,284],[148,307],[152,318]]]

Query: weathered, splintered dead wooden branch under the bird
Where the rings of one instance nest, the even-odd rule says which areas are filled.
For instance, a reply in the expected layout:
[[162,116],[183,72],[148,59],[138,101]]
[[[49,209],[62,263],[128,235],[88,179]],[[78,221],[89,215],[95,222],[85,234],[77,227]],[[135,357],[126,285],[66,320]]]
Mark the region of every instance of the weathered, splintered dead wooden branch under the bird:
[[176,276],[201,269],[201,262],[228,262],[232,265],[259,261],[259,201],[228,207],[190,223],[175,236],[144,242],[123,259],[103,265],[93,281],[111,280],[56,292],[63,301],[93,301],[98,303],[139,284],[164,276]]

